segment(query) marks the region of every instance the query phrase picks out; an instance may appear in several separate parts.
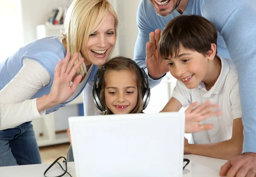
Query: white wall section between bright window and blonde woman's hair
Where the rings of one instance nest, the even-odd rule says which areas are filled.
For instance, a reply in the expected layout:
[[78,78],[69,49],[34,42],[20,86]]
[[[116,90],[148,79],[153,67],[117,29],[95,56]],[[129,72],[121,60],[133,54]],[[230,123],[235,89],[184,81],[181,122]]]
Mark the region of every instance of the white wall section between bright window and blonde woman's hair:
[[36,40],[36,26],[47,22],[52,9],[69,3],[70,0],[20,0],[24,44]]

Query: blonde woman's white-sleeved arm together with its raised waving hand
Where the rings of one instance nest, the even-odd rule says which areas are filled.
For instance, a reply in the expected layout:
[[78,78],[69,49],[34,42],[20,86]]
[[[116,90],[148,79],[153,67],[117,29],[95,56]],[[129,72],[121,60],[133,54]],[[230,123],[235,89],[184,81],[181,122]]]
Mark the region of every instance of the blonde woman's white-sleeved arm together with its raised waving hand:
[[[12,87],[10,88],[8,83],[1,91],[0,91],[0,130],[11,128],[13,126],[18,126],[24,122],[30,121],[36,117],[34,114],[30,114],[31,112],[25,112],[23,108],[28,107],[27,110],[33,110],[33,112],[41,112],[45,111],[47,108],[51,108],[55,105],[60,103],[64,103],[76,90],[76,87],[81,81],[82,76],[77,75],[75,77],[76,71],[79,69],[81,64],[84,62],[82,58],[76,65],[74,65],[75,61],[78,58],[78,54],[76,53],[75,56],[70,60],[70,52],[67,52],[65,60],[61,59],[54,72],[54,80],[52,84],[52,88],[49,94],[44,95],[40,98],[33,99],[29,101],[29,99],[36,93],[38,89],[41,87],[38,86],[36,89],[30,89],[35,87],[35,83],[29,83],[27,87],[24,88],[23,83],[20,85],[16,85],[18,80],[22,80],[23,82],[27,82],[29,77],[35,77],[35,71],[32,69],[31,74],[19,74],[15,76],[16,82],[10,81]],[[25,69],[23,69],[24,71]],[[39,73],[41,77],[45,77],[43,74]],[[36,75],[36,74],[35,74]],[[73,80],[74,78],[74,80]],[[34,78],[35,79],[35,78]],[[70,82],[73,80],[72,86],[70,86]],[[14,92],[14,88],[17,87],[17,90],[20,90],[18,94]],[[26,94],[26,92],[29,92]],[[16,103],[10,103],[8,100],[8,94],[12,99],[14,97],[21,98],[17,99],[20,102],[16,101]],[[23,94],[26,94],[25,100]],[[2,96],[4,97],[2,101]],[[6,101],[7,100],[7,101]],[[24,104],[24,106],[23,106]],[[36,105],[36,106],[35,106]],[[9,111],[9,114],[7,113]],[[11,120],[10,120],[11,117]],[[13,118],[12,118],[13,117]],[[8,119],[9,118],[9,119]]]

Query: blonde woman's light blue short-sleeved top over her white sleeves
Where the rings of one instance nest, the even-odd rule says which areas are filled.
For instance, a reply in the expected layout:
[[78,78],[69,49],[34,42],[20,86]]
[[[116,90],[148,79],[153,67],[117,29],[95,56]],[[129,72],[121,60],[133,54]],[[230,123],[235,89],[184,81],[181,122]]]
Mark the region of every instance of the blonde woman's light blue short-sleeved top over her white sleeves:
[[[13,55],[8,57],[5,61],[0,63],[0,90],[8,84],[12,78],[20,71],[23,66],[23,59],[29,58],[32,60],[38,61],[44,68],[49,72],[51,81],[47,86],[41,87],[30,99],[42,97],[45,94],[49,94],[52,83],[54,80],[54,70],[61,58],[65,58],[66,51],[58,36],[45,37],[39,40],[35,40],[16,51]],[[84,86],[76,95],[76,97],[81,94],[84,87],[89,81],[94,80],[94,75],[96,74],[98,66],[94,66],[89,74],[88,79],[86,80]],[[72,100],[76,99],[74,97]],[[57,111],[59,108],[64,107],[67,103],[70,103],[72,100],[69,100],[65,103],[61,103],[52,108],[46,110],[46,114]]]

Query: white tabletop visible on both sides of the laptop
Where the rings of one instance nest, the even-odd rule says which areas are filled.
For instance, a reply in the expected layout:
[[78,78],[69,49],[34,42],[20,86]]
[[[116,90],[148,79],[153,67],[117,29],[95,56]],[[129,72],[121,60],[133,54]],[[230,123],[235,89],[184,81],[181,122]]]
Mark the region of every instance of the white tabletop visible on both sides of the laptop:
[[[183,170],[183,177],[218,177],[221,166],[227,160],[215,159],[199,155],[184,155],[190,163]],[[44,171],[50,166],[49,163],[26,165],[26,166],[7,166],[0,167],[1,177],[44,177]],[[68,172],[76,177],[76,169],[73,162],[67,163]],[[62,169],[55,164],[47,172],[47,176],[58,176],[62,174]],[[63,177],[69,177],[68,174]]]

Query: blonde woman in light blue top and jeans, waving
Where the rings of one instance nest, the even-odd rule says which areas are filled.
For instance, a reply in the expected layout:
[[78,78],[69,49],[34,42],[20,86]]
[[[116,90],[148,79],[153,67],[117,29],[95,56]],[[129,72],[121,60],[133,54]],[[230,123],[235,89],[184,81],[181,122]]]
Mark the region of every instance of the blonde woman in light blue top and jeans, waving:
[[35,40],[0,63],[0,166],[41,163],[31,121],[81,94],[107,61],[117,23],[108,0],[73,0],[62,36]]

